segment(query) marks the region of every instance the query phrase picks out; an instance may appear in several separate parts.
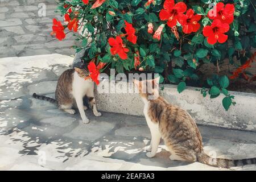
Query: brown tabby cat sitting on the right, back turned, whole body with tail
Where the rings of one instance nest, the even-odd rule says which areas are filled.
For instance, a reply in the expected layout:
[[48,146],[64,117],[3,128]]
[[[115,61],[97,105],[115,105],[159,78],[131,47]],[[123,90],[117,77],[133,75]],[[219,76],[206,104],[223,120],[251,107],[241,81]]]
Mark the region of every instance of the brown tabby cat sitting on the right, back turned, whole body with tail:
[[[194,119],[178,106],[169,104],[158,96],[159,77],[154,80],[134,80],[144,102],[144,115],[151,132],[151,143],[147,148],[147,157],[153,158],[158,149],[160,138],[171,152],[171,160],[200,162],[210,166],[230,168],[255,164],[256,158],[230,160],[211,158],[203,150],[202,137]],[[145,90],[145,92],[143,92]],[[150,100],[155,94],[157,97]]]

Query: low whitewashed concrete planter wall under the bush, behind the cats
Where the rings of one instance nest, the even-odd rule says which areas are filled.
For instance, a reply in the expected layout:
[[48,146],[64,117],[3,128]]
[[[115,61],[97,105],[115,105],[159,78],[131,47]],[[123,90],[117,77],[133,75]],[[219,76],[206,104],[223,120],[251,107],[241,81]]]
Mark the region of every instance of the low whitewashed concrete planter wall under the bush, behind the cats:
[[[127,82],[117,82],[118,88],[128,88]],[[130,84],[131,86],[131,84]],[[116,86],[117,88],[117,86]],[[164,85],[160,94],[168,102],[187,110],[202,125],[225,127],[229,129],[256,131],[256,94],[230,92],[237,104],[228,111],[222,107],[222,98],[203,98],[194,87],[188,87],[182,93],[177,92],[176,85]],[[96,101],[99,110],[130,115],[143,115],[143,102],[139,94],[98,93]]]

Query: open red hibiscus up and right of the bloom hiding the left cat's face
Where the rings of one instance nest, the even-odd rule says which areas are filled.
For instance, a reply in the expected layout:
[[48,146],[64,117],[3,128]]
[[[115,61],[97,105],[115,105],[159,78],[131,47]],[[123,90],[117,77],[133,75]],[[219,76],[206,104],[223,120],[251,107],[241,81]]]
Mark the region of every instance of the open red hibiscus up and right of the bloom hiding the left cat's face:
[[129,49],[125,48],[123,45],[123,40],[120,36],[117,36],[115,39],[109,38],[109,45],[112,46],[110,49],[112,55],[118,54],[121,59],[127,59],[126,52],[129,52]]

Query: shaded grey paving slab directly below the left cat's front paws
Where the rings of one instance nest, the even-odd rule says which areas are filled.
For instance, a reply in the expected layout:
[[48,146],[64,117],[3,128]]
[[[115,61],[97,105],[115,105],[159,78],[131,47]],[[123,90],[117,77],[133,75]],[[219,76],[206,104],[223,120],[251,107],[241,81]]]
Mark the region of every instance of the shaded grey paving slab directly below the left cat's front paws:
[[64,134],[64,137],[82,139],[82,140],[96,140],[104,137],[114,128],[113,123],[109,122],[98,122],[91,120],[90,123],[84,124],[82,121],[79,122],[79,126],[73,129],[70,133]]

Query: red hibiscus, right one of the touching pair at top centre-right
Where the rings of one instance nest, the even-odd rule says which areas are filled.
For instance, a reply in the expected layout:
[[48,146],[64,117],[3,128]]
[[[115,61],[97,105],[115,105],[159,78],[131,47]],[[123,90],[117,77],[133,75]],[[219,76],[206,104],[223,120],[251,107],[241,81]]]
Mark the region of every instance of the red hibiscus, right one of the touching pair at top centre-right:
[[200,28],[198,21],[201,19],[201,15],[194,15],[194,11],[189,9],[184,15],[180,15],[180,24],[182,25],[182,30],[185,34],[190,34],[191,32],[197,32]]

